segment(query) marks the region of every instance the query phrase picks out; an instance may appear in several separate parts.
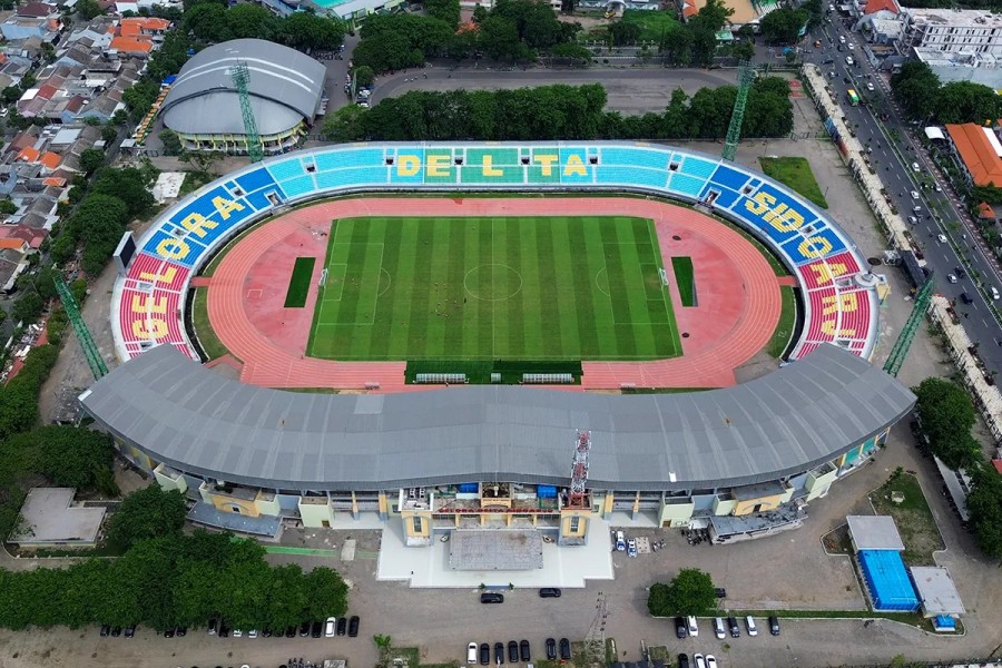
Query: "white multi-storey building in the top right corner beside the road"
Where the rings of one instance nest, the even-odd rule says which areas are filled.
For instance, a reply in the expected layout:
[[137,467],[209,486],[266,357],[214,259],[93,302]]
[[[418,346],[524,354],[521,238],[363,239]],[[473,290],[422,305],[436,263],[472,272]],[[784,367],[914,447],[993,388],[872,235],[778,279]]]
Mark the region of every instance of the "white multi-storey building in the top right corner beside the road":
[[1002,56],[1002,16],[976,9],[907,9],[906,45],[952,53]]

